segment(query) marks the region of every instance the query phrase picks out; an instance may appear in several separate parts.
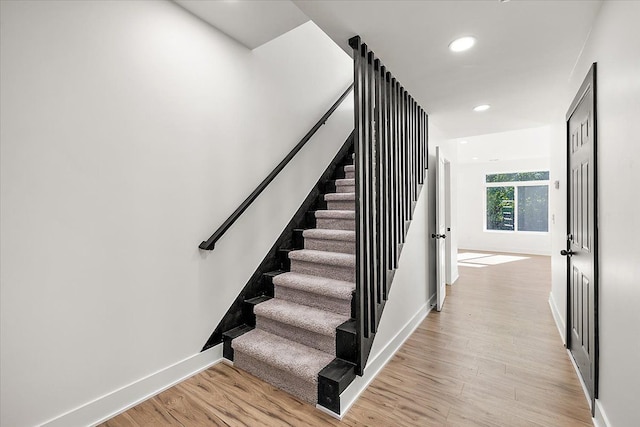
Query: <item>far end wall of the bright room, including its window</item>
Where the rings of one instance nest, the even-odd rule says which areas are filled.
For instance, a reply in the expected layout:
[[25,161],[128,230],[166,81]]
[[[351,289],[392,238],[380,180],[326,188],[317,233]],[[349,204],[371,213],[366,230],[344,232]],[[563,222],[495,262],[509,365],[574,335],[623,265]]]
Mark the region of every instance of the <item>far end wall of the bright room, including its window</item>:
[[551,129],[458,140],[458,247],[551,255]]

